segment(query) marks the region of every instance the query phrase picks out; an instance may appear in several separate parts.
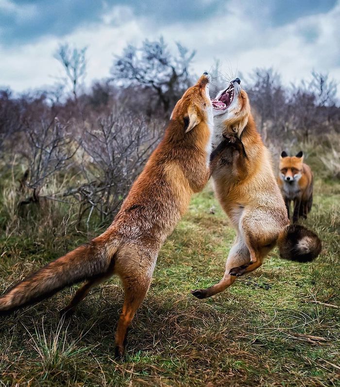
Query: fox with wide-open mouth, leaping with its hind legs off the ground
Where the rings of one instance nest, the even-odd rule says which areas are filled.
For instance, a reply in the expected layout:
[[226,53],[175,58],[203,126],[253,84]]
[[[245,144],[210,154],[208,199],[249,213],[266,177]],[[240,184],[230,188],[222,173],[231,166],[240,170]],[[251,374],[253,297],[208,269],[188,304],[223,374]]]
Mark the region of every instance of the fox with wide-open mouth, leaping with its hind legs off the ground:
[[204,299],[231,286],[237,277],[259,268],[279,248],[280,257],[309,262],[322,249],[320,238],[290,225],[286,206],[251,113],[247,93],[236,78],[213,103],[214,137],[210,155],[215,195],[236,229],[221,281],[191,293]]

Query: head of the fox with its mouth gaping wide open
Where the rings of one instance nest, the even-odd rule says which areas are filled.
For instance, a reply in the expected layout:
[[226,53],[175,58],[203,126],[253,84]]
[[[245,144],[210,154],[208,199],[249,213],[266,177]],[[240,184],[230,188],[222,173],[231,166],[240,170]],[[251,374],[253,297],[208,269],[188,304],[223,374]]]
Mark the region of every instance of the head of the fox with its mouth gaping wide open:
[[239,78],[232,80],[212,100],[215,127],[223,128],[223,133],[236,133],[238,138],[247,125],[250,114],[248,95],[241,89],[240,83]]

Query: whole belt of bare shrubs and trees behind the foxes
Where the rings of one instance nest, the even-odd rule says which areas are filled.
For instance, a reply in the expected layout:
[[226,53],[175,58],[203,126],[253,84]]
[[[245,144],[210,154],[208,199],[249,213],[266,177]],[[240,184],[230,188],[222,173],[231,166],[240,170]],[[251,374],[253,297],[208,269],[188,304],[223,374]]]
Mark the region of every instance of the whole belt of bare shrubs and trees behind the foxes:
[[[61,221],[60,229],[65,219],[79,232],[90,224],[107,226],[163,135],[175,102],[197,78],[190,71],[194,55],[179,43],[171,52],[162,38],[129,45],[115,58],[111,77],[85,89],[86,48],[64,44],[55,53],[65,69],[58,84],[23,95],[1,90],[5,233],[18,233],[25,222],[29,233],[33,224],[47,232]],[[211,73],[214,94],[229,77],[218,63]],[[287,86],[272,68],[241,79],[274,166],[282,150],[302,149],[325,178],[339,179],[337,84],[313,72]]]

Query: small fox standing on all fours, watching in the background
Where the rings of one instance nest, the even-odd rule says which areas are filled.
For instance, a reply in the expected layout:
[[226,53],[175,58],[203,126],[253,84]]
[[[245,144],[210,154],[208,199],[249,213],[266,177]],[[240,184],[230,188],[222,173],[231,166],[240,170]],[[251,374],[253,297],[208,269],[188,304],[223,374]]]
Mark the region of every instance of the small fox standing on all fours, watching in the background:
[[307,219],[313,204],[314,175],[311,168],[304,163],[304,152],[299,151],[295,156],[289,157],[287,152],[283,151],[279,169],[277,182],[286,204],[288,218],[290,202],[293,201],[293,223],[296,223],[299,217]]

